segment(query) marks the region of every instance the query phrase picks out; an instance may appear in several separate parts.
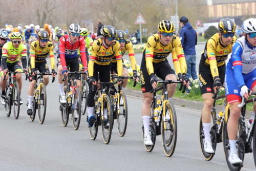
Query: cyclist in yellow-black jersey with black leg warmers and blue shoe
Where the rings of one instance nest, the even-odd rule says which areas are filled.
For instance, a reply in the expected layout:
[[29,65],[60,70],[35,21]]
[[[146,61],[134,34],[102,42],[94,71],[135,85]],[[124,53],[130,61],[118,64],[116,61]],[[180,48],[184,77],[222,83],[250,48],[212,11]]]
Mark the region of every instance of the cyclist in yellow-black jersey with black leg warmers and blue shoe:
[[[122,75],[122,53],[120,52],[120,45],[118,41],[115,41],[116,29],[113,26],[103,26],[100,30],[102,37],[93,42],[93,47],[90,53],[89,63],[88,63],[88,75],[89,75],[89,93],[87,99],[87,109],[88,109],[88,123],[89,126],[93,126],[93,121],[95,121],[95,116],[93,115],[94,107],[94,95],[97,90],[96,82],[98,78],[101,82],[110,81],[110,69],[111,60],[113,56],[116,56],[117,60],[117,70],[118,70],[118,84],[123,83],[121,79]],[[93,85],[92,85],[93,84]],[[94,87],[93,87],[94,86]],[[91,91],[91,89],[95,91]],[[106,89],[108,94],[109,86]],[[103,116],[106,118],[106,109],[103,111]],[[106,121],[106,125],[109,122]]]

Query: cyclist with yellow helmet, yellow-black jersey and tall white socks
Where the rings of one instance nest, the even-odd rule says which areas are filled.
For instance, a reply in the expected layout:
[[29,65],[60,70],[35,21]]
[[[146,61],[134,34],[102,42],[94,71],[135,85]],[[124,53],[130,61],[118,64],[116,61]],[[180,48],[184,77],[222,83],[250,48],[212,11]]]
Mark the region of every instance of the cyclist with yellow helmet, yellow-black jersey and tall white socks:
[[[152,87],[156,89],[158,77],[162,80],[177,80],[175,71],[170,67],[167,56],[172,53],[175,70],[180,80],[184,81],[186,87],[186,60],[182,50],[181,41],[174,35],[175,27],[169,20],[162,20],[158,24],[157,34],[153,34],[147,39],[143,50],[140,70],[140,83],[143,93],[142,120],[144,126],[144,144],[152,145],[149,130],[151,118],[151,102],[153,94],[150,93]],[[176,91],[177,84],[168,84],[168,100],[171,101]]]

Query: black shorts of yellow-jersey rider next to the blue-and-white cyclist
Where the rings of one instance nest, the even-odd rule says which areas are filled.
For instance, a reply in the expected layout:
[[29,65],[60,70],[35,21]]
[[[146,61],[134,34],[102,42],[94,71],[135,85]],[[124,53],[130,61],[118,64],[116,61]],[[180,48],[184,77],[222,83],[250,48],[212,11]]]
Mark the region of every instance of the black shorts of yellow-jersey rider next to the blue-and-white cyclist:
[[[226,65],[218,67],[219,77],[223,85],[225,80]],[[204,63],[199,63],[199,80],[200,80],[200,89],[201,93],[214,93],[212,89],[212,84],[214,84],[214,78],[212,78],[210,72],[210,66],[206,66]]]

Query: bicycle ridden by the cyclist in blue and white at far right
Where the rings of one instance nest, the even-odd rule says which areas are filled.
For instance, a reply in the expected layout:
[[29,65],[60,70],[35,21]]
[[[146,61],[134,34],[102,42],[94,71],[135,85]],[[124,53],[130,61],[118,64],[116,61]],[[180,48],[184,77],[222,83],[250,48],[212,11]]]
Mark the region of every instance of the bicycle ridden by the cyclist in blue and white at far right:
[[[251,95],[256,95],[256,93],[252,93]],[[256,98],[252,98],[249,100],[246,100],[244,97],[242,98],[242,103],[239,104],[239,108],[241,109],[241,117],[238,120],[238,138],[237,138],[237,149],[238,149],[238,156],[239,158],[244,161],[245,153],[252,153],[253,152],[253,158],[254,158],[254,164],[256,166],[256,149],[254,148],[256,146],[256,126],[254,124],[255,116],[253,118],[253,121],[251,122],[251,127],[249,129],[248,134],[246,133],[246,126],[245,126],[245,112],[246,112],[246,104],[255,102]],[[226,108],[228,111],[228,115],[225,116],[225,122],[223,124],[223,147],[224,147],[224,153],[227,161],[228,168],[230,170],[240,170],[241,167],[243,167],[243,163],[241,164],[234,164],[232,165],[228,161],[229,153],[230,153],[230,146],[229,146],[229,140],[227,135],[227,121],[230,114],[230,109]],[[251,148],[251,141],[253,138],[253,150]]]

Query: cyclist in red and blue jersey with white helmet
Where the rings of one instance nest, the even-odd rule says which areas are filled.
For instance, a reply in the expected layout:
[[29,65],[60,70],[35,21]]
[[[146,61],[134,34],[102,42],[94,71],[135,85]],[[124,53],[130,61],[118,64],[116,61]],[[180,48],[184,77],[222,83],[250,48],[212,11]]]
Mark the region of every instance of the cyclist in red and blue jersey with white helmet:
[[[87,59],[86,59],[86,42],[83,37],[80,36],[80,26],[78,24],[71,24],[69,26],[69,35],[63,35],[59,40],[59,54],[57,57],[57,68],[58,68],[58,82],[60,90],[60,103],[66,103],[65,92],[63,90],[64,82],[62,81],[63,75],[68,75],[67,65],[70,66],[70,71],[79,71],[79,63],[77,50],[80,48],[80,54],[82,59],[82,64],[84,66],[84,72],[87,72]],[[76,76],[77,87],[81,90],[81,75]],[[75,106],[77,104],[77,99],[75,99]],[[75,114],[75,118],[78,114]]]

